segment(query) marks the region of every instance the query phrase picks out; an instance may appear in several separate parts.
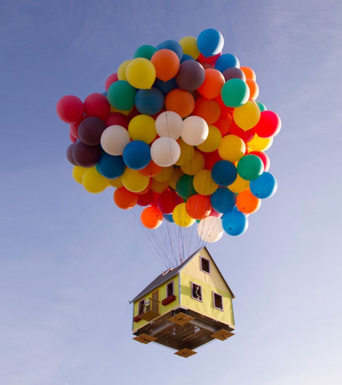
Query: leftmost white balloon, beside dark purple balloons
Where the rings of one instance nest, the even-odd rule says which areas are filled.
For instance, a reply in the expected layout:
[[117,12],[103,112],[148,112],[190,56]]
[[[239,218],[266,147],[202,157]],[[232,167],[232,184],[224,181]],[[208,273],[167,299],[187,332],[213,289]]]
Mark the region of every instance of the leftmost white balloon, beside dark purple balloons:
[[101,135],[101,146],[109,155],[122,155],[129,142],[128,131],[119,125],[107,127]]

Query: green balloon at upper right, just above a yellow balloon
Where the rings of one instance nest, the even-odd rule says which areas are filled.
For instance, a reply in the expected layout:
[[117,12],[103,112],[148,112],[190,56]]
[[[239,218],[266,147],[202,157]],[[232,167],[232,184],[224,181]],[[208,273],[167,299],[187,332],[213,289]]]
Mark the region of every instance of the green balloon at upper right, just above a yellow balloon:
[[250,89],[241,79],[230,79],[221,89],[221,98],[228,107],[241,107],[250,98]]

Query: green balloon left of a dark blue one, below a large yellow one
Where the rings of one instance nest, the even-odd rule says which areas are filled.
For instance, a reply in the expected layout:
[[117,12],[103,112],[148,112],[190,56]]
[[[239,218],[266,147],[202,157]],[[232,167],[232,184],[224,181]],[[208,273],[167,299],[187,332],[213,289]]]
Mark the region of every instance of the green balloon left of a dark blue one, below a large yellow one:
[[125,80],[118,80],[107,91],[108,103],[118,110],[128,111],[134,106],[137,90]]

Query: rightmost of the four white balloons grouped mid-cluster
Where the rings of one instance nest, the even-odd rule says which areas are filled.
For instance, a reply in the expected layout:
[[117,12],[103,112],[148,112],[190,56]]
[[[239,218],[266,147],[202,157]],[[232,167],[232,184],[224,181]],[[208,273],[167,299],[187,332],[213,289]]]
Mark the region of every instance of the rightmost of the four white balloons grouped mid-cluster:
[[191,146],[198,146],[205,141],[208,133],[209,127],[203,118],[191,115],[184,119],[181,138],[185,143]]

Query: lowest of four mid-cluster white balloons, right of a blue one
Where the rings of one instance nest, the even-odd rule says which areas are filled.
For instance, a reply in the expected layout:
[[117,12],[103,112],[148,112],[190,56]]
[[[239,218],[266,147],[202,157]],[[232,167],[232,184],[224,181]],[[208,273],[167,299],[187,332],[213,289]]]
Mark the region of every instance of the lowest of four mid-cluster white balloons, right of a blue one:
[[180,147],[175,139],[158,138],[151,145],[151,158],[159,166],[172,166],[179,157]]

